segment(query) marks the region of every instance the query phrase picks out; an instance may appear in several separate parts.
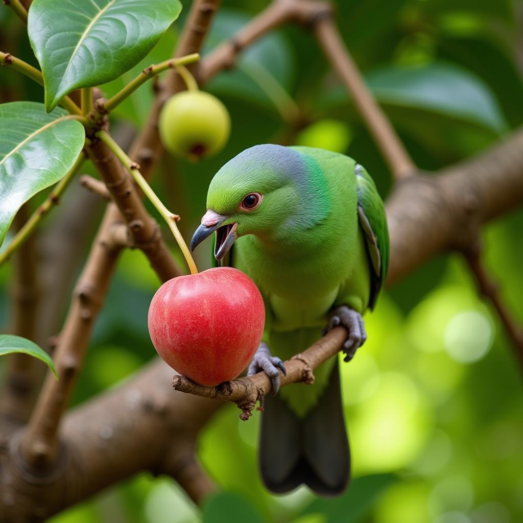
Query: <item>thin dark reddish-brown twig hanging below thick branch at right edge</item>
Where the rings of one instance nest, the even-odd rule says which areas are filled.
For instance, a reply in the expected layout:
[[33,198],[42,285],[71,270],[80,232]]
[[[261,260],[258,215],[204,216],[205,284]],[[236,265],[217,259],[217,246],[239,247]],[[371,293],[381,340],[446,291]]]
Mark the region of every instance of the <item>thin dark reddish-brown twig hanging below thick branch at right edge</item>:
[[519,361],[520,369],[523,370],[523,330],[511,317],[507,308],[503,304],[501,295],[499,294],[499,286],[488,275],[486,268],[481,260],[480,242],[476,242],[475,246],[463,251],[463,256],[469,264],[470,270],[474,275],[477,283],[477,288],[480,293],[489,300],[496,310],[499,319],[501,320],[505,330],[512,342],[514,354]]

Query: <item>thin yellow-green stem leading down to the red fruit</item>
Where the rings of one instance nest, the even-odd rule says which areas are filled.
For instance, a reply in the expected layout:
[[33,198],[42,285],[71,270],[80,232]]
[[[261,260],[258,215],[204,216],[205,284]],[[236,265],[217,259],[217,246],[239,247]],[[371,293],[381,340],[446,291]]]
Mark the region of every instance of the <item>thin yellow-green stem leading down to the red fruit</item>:
[[191,253],[184,241],[183,236],[180,234],[176,226],[176,222],[180,219],[177,214],[170,212],[162,203],[160,198],[156,196],[156,193],[151,189],[151,186],[145,181],[145,178],[140,173],[139,165],[131,160],[126,153],[120,148],[120,146],[112,139],[111,135],[106,131],[98,131],[96,137],[103,141],[109,149],[116,154],[118,160],[126,167],[131,176],[134,178],[140,189],[142,189],[144,195],[149,198],[151,203],[156,207],[157,211],[162,215],[162,218],[167,222],[169,229],[174,235],[176,243],[181,249],[182,254],[187,261],[187,265],[191,271],[191,274],[198,274],[198,269],[194,259],[192,259]]

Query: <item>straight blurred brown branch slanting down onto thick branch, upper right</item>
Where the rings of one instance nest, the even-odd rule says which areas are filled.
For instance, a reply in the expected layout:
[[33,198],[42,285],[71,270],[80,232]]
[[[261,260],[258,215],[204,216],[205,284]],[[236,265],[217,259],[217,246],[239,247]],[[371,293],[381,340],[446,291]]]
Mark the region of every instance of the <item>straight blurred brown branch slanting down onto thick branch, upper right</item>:
[[332,17],[314,24],[314,34],[334,70],[344,83],[360,115],[376,140],[385,161],[396,179],[412,176],[417,168],[403,143],[365,85],[358,67],[350,56]]

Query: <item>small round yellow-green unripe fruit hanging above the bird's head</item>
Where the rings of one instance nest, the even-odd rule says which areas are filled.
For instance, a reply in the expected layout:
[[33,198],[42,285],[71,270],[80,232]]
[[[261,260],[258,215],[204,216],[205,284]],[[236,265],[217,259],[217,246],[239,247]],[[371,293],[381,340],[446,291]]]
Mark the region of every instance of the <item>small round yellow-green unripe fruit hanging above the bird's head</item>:
[[223,103],[199,90],[170,97],[160,112],[159,124],[165,149],[189,160],[220,152],[231,132],[231,118]]

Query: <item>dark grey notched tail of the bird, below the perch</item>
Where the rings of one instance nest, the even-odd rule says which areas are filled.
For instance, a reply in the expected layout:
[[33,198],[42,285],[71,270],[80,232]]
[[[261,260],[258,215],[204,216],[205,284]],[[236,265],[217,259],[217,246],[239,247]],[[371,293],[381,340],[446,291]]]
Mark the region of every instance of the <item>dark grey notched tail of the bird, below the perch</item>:
[[350,480],[350,451],[338,362],[305,418],[298,418],[278,396],[266,397],[264,410],[259,458],[267,488],[283,493],[305,483],[322,496],[341,494]]

